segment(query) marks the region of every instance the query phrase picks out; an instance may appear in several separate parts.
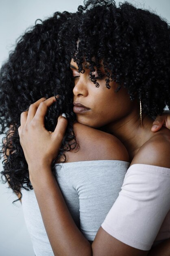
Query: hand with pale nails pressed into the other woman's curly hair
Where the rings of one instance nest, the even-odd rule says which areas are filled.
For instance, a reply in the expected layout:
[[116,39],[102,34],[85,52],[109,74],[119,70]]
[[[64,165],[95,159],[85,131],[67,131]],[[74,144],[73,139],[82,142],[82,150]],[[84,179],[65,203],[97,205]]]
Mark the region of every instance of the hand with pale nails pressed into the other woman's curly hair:
[[55,97],[41,98],[31,104],[29,110],[21,114],[21,126],[18,128],[18,133],[29,173],[32,169],[38,170],[41,166],[51,167],[61,146],[67,119],[60,116],[54,132],[46,130],[44,126],[47,109],[55,101]]

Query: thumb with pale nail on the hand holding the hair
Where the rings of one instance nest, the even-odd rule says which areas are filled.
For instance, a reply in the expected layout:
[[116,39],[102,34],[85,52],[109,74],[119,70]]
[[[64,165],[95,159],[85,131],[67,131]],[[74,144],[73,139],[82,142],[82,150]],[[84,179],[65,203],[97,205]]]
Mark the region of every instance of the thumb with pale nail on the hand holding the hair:
[[56,126],[54,132],[52,133],[52,137],[54,137],[54,139],[57,139],[57,141],[60,145],[63,141],[63,137],[65,135],[65,130],[68,125],[68,121],[64,117],[64,115],[62,114],[61,116],[59,116],[58,121],[57,121],[57,126]]

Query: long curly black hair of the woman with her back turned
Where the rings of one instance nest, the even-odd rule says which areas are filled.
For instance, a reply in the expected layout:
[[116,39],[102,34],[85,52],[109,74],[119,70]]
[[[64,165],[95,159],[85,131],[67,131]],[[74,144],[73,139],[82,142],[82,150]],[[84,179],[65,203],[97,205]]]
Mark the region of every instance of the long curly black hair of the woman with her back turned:
[[[17,42],[9,59],[0,70],[0,133],[5,133],[1,153],[4,155],[2,182],[8,182],[15,193],[21,188],[33,189],[29,180],[28,165],[24,157],[17,128],[21,112],[40,99],[59,95],[45,117],[45,127],[54,131],[57,117],[65,113],[68,119],[63,144],[59,155],[52,163],[63,158],[64,152],[76,146],[73,132],[75,115],[72,111],[70,59],[58,42],[61,25],[74,13],[56,12],[54,16],[27,31]],[[22,197],[22,195],[21,195]],[[17,200],[15,200],[17,201]],[[15,202],[14,201],[14,202]]]

